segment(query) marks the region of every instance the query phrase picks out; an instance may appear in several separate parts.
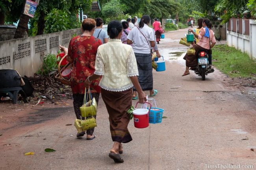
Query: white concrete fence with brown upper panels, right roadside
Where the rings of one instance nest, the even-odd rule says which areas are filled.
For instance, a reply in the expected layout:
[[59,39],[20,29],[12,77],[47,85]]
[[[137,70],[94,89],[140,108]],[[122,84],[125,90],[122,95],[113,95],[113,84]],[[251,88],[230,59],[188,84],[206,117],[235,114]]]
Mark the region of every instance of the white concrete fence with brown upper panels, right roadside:
[[256,20],[232,18],[226,27],[228,46],[256,58]]

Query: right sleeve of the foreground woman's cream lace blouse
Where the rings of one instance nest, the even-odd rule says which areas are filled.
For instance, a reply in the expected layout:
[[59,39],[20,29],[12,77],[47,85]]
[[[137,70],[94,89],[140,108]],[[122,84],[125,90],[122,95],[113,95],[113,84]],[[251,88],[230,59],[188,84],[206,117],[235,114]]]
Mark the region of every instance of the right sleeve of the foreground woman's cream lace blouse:
[[132,48],[128,54],[128,58],[127,58],[127,62],[126,62],[126,70],[127,70],[128,77],[133,77],[133,76],[139,75],[136,58],[135,58],[134,51]]

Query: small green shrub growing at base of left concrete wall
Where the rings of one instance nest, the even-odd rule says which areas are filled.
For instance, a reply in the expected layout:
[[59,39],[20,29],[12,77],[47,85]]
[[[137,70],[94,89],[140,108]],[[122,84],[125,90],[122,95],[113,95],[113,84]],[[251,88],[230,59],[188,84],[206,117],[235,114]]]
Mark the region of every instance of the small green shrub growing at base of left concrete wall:
[[57,66],[57,58],[54,54],[48,54],[43,59],[43,66],[37,71],[37,74],[40,75],[48,75],[50,72],[56,70]]

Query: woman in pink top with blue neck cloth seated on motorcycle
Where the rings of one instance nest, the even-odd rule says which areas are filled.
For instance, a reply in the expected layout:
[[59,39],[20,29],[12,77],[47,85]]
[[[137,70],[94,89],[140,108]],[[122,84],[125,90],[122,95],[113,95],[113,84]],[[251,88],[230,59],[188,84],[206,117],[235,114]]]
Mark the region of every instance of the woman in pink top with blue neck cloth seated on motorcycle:
[[[182,76],[189,75],[189,67],[197,67],[197,53],[199,50],[210,51],[211,48],[216,44],[213,31],[211,28],[211,22],[209,19],[204,19],[200,33],[197,34],[193,29],[189,29],[189,32],[192,32],[195,37],[199,40],[197,44],[193,47],[195,49],[195,55],[185,55],[184,60],[186,60],[186,71]],[[210,46],[210,42],[211,46]]]

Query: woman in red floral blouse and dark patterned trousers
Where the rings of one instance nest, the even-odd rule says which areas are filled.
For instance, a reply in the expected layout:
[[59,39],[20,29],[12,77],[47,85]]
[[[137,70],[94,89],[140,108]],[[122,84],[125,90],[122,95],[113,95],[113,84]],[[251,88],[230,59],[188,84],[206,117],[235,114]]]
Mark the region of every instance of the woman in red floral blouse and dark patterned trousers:
[[[67,59],[73,63],[71,89],[76,119],[81,119],[80,107],[83,105],[85,80],[89,75],[93,75],[95,71],[97,49],[102,44],[100,39],[93,37],[95,26],[95,20],[91,18],[84,19],[82,23],[83,34],[72,38],[69,43]],[[100,79],[94,80],[90,86],[92,97],[95,97],[97,104],[100,96],[99,82]],[[88,140],[95,138],[93,132],[94,128],[86,131]],[[82,137],[83,135],[85,135],[85,132],[77,133],[76,137]]]

